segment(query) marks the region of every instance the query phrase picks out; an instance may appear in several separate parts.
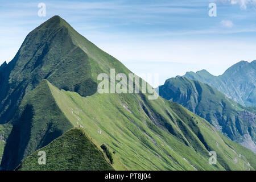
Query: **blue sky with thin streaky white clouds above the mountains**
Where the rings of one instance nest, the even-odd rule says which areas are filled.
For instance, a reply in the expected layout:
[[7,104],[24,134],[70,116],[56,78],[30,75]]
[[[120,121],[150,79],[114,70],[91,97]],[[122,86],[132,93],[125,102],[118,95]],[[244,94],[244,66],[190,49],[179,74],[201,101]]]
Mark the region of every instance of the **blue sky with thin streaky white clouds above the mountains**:
[[[38,4],[46,4],[46,17]],[[217,16],[210,17],[209,3]],[[256,59],[256,0],[6,1],[0,0],[0,64],[26,35],[53,15],[122,61],[131,71],[158,73],[159,84],[187,71],[221,75]]]

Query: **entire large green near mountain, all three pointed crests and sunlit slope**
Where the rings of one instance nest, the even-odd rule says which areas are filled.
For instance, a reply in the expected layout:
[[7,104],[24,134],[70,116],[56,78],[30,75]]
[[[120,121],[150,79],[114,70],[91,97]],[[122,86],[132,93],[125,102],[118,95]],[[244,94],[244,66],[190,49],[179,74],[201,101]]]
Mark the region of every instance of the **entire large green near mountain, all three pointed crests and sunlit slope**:
[[[256,169],[253,151],[175,102],[98,93],[97,76],[110,69],[132,73],[60,16],[31,31],[0,67],[1,169]],[[46,165],[39,166],[39,151]]]

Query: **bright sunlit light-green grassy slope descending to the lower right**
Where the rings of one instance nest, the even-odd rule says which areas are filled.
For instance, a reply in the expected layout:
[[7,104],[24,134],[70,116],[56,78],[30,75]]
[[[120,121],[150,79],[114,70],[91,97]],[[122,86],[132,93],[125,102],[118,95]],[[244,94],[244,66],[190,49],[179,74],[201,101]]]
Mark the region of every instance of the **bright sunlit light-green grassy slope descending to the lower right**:
[[[224,142],[207,121],[174,102],[148,100],[143,94],[96,93],[85,98],[49,85],[69,121],[105,143],[129,169],[243,170],[247,162],[255,168],[252,151]],[[208,163],[211,150],[218,155],[216,166]]]

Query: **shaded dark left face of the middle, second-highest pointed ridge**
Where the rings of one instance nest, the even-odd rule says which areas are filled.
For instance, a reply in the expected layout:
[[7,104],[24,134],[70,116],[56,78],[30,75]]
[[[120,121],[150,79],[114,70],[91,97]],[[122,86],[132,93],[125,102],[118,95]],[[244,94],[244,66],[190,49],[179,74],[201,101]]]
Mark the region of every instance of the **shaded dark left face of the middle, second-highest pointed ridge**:
[[73,127],[56,105],[46,80],[23,98],[11,123],[2,169],[14,169],[20,160]]

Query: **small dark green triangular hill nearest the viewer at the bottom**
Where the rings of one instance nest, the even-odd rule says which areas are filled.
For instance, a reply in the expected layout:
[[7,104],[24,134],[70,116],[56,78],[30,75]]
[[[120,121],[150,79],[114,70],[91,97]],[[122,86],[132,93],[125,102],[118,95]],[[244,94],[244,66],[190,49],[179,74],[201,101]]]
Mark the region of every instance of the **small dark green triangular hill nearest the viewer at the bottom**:
[[[38,164],[38,152],[46,152],[46,164]],[[102,151],[86,136],[84,129],[68,130],[46,147],[34,152],[16,169],[19,171],[87,171],[113,170]]]

